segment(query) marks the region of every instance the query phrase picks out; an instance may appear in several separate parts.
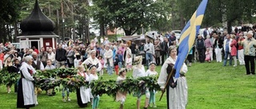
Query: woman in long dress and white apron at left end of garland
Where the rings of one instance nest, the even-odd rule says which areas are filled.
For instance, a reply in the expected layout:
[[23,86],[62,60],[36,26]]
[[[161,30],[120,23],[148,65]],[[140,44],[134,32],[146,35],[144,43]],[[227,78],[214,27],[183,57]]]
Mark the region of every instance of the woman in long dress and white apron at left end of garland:
[[17,107],[29,109],[30,107],[34,107],[36,103],[33,83],[33,75],[36,71],[31,65],[33,57],[26,56],[25,60],[26,62],[23,62],[20,68],[21,79],[18,81]]

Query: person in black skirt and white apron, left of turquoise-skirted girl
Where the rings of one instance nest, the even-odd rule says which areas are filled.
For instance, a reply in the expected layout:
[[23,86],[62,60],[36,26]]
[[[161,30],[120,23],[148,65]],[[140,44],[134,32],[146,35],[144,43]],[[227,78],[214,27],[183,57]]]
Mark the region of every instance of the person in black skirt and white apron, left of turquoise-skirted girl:
[[[82,65],[78,66],[78,76],[82,76],[85,81],[89,81],[89,76]],[[84,86],[77,88],[77,99],[79,107],[87,107],[87,103],[90,102],[90,91]]]

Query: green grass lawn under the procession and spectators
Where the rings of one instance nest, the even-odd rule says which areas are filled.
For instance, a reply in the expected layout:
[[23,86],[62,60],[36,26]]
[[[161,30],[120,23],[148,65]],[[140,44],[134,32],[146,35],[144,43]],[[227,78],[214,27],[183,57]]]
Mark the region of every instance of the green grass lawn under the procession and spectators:
[[[161,67],[157,68],[160,72]],[[127,75],[131,76],[131,72]],[[189,86],[189,101],[187,109],[256,109],[256,76],[246,76],[244,66],[238,65],[222,67],[222,63],[195,63],[189,67],[186,74]],[[104,79],[116,79],[117,76],[104,75]],[[166,96],[159,102],[161,92],[156,94],[157,108],[166,109]],[[0,87],[0,108],[13,109],[16,107],[14,88],[7,94],[6,87]],[[63,103],[61,92],[55,96],[47,96],[45,91],[38,95],[37,109],[68,109],[79,108],[75,93],[71,93],[70,102]],[[144,102],[145,95],[142,96]],[[141,108],[143,107],[142,106]],[[114,98],[102,95],[99,109],[118,109],[119,103]],[[90,108],[90,107],[87,107]],[[125,109],[136,109],[136,97],[127,95]]]

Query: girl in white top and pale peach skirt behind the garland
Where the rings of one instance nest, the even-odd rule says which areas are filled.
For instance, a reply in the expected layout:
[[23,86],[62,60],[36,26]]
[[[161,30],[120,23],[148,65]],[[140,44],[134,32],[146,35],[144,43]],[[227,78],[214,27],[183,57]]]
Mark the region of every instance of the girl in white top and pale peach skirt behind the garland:
[[[126,80],[126,68],[122,68],[119,72],[119,76],[117,79],[117,82],[120,84],[123,80]],[[118,91],[117,95],[116,95],[116,101],[119,102],[120,101],[120,107],[119,109],[123,109],[123,104],[126,101],[126,91]]]

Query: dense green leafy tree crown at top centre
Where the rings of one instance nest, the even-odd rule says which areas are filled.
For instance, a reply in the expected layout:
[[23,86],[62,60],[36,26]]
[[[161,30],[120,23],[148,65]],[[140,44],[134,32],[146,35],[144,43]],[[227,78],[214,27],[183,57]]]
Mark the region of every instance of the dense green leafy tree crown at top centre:
[[156,21],[162,8],[154,0],[94,0],[92,9],[99,24],[121,27],[126,35],[133,35]]

